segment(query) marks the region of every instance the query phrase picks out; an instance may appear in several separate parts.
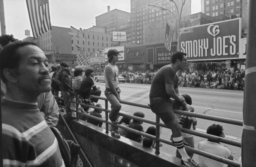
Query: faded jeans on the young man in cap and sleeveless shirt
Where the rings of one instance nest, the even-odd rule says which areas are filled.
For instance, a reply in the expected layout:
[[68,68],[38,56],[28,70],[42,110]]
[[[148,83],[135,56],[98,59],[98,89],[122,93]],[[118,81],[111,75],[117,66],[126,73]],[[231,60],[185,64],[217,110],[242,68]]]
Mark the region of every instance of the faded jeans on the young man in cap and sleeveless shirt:
[[[106,88],[106,90],[104,91],[104,94],[111,104],[111,111],[109,114],[109,119],[110,119],[110,121],[115,121],[118,118],[118,112],[120,111],[122,106],[121,106],[119,100],[116,98],[116,96],[113,94],[113,92],[110,89]],[[118,96],[120,98],[119,93],[118,93]]]

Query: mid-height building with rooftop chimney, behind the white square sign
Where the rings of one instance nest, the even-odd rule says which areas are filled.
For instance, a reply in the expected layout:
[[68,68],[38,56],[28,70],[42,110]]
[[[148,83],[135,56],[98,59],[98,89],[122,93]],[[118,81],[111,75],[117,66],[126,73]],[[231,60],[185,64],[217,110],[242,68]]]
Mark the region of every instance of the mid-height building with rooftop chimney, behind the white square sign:
[[[103,13],[95,17],[96,26],[104,27],[107,33],[112,34],[114,31],[125,31],[126,41],[122,43],[131,43],[131,13],[123,10],[114,9],[110,11],[108,6],[108,12]],[[118,42],[113,42],[113,45],[119,45]]]

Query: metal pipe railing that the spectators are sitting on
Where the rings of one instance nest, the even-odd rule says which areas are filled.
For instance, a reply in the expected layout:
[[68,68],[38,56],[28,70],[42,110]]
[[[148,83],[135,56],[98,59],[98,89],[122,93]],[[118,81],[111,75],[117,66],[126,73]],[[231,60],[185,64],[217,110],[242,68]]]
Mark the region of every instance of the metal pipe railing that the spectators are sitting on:
[[[92,96],[92,95],[90,95],[90,97],[97,98],[97,99],[100,99],[100,100],[104,100],[105,101],[105,109],[101,108],[101,107],[93,106],[93,105],[80,103],[80,102],[77,102],[77,101],[72,101],[72,103],[76,104],[76,110],[72,109],[72,111],[76,112],[77,114],[82,114],[83,116],[90,117],[92,119],[96,119],[98,121],[104,122],[106,124],[106,126],[105,126],[106,133],[108,133],[109,124],[113,125],[113,123],[111,121],[108,121],[108,114],[110,113],[110,110],[108,109],[108,99],[105,98],[105,97]],[[62,98],[58,97],[58,99],[62,99]],[[145,104],[138,104],[138,103],[123,101],[123,100],[120,100],[120,103],[150,109],[150,107],[148,105],[145,105]],[[79,111],[78,110],[78,105],[87,106],[87,107],[90,107],[90,108],[105,111],[105,120],[100,119],[96,116],[92,116],[92,115],[87,114],[87,113],[83,113],[82,111]],[[181,111],[181,110],[174,110],[174,113],[175,114],[182,114],[182,115],[186,115],[186,116],[192,116],[192,117],[196,117],[196,118],[212,120],[212,121],[223,122],[223,123],[227,123],[227,124],[243,126],[243,121],[240,121],[240,120],[237,120],[237,119],[228,119],[228,118],[223,118],[223,117],[219,117],[219,116],[210,116],[210,115],[192,113],[192,112]],[[144,119],[144,118],[140,118],[140,117],[137,117],[137,116],[132,116],[132,115],[129,115],[129,114],[124,114],[124,113],[121,113],[121,112],[119,112],[118,115],[119,116],[125,116],[125,117],[131,118],[131,119],[136,119],[136,120],[139,120],[139,121],[143,121],[145,123],[152,124],[152,125],[156,126],[156,136],[153,136],[153,135],[150,135],[150,134],[146,134],[145,132],[139,132],[135,129],[131,129],[131,128],[128,128],[128,127],[121,126],[119,124],[115,124],[115,126],[117,126],[119,128],[122,128],[122,129],[125,129],[126,131],[133,132],[135,134],[154,139],[156,141],[155,154],[160,153],[160,151],[159,151],[159,149],[160,149],[160,144],[159,143],[160,142],[165,143],[165,144],[169,144],[169,145],[172,145],[172,146],[175,147],[173,142],[160,137],[160,127],[164,127],[164,128],[168,128],[168,127],[166,127],[165,124],[160,123],[159,116],[156,116],[156,121],[152,121],[152,120],[149,120],[149,119]],[[77,120],[79,120],[79,116],[77,116]],[[198,136],[198,137],[212,139],[212,140],[222,142],[222,143],[225,143],[225,144],[229,144],[229,145],[233,145],[233,146],[236,146],[236,147],[241,147],[241,142],[234,141],[234,140],[231,140],[231,139],[225,139],[225,138],[222,138],[222,137],[217,137],[217,136],[214,136],[214,135],[210,135],[210,134],[206,134],[206,133],[202,133],[202,132],[196,132],[196,131],[193,131],[193,130],[190,130],[190,129],[184,129],[184,128],[182,128],[182,132],[187,133],[187,134],[192,134],[192,135],[195,135],[195,136]],[[187,151],[194,152],[195,154],[202,155],[204,157],[214,159],[216,161],[219,161],[219,162],[222,162],[222,163],[234,166],[234,167],[240,167],[240,163],[238,163],[238,162],[234,162],[232,160],[225,159],[223,157],[219,157],[219,156],[216,156],[216,155],[213,155],[213,154],[209,154],[207,152],[203,152],[203,151],[200,151],[198,149],[188,147],[186,145],[184,145],[184,147]]]

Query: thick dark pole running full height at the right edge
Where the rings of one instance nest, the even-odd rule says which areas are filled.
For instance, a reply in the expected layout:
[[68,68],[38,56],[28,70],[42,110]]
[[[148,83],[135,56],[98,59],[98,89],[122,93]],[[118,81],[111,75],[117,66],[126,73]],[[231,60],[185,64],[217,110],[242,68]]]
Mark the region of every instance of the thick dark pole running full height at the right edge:
[[243,98],[242,166],[256,166],[256,0],[248,1],[246,76]]

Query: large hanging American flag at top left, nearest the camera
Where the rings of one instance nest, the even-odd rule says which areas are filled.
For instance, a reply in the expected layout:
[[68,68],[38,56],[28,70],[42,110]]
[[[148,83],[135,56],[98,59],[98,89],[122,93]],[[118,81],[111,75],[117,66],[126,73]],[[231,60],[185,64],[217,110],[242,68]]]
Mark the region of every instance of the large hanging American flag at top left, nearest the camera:
[[26,0],[34,38],[51,30],[49,0]]

